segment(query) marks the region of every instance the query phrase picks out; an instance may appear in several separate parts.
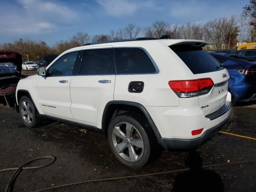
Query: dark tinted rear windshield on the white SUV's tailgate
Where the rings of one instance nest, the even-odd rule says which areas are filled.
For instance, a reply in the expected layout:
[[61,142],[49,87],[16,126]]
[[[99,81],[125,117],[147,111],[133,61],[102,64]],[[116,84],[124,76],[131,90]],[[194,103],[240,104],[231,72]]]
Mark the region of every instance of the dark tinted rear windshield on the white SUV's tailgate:
[[170,46],[170,48],[194,74],[209,73],[224,69],[223,67],[217,68],[220,63],[201,47],[174,45]]

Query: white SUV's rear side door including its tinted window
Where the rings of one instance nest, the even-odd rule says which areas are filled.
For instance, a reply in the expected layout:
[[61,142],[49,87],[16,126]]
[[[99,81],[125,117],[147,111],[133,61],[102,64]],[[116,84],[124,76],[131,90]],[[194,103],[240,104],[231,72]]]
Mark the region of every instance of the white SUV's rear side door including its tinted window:
[[114,97],[115,78],[112,46],[84,50],[80,74],[70,84],[70,110],[76,122],[101,128],[104,108]]

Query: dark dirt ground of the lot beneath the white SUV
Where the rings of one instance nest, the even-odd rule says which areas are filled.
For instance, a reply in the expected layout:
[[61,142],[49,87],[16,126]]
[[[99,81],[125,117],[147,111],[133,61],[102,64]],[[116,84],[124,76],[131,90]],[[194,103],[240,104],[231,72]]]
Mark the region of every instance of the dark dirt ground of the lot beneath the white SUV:
[[[256,138],[256,102],[242,105],[232,108],[232,118],[222,131]],[[256,191],[256,140],[219,133],[195,152],[164,151],[154,162],[133,170],[114,158],[103,135],[60,122],[29,129],[17,112],[0,104],[0,170],[46,155],[55,156],[56,161],[23,170],[13,191],[114,177],[124,178],[48,191]],[[0,172],[0,191],[12,174]]]

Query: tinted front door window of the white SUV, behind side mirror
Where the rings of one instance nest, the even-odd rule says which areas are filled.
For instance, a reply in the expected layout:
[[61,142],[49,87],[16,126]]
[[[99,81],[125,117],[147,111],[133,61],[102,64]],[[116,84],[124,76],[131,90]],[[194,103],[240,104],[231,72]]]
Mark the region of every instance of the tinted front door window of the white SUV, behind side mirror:
[[49,76],[72,75],[79,52],[71,52],[59,58],[48,70]]

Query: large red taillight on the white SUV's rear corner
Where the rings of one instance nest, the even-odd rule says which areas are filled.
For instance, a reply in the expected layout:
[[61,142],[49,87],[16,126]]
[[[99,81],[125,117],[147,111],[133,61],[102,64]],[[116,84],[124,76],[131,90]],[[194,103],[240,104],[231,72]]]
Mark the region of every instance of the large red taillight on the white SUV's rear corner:
[[180,98],[195,97],[210,92],[213,86],[211,78],[169,81],[170,88]]

